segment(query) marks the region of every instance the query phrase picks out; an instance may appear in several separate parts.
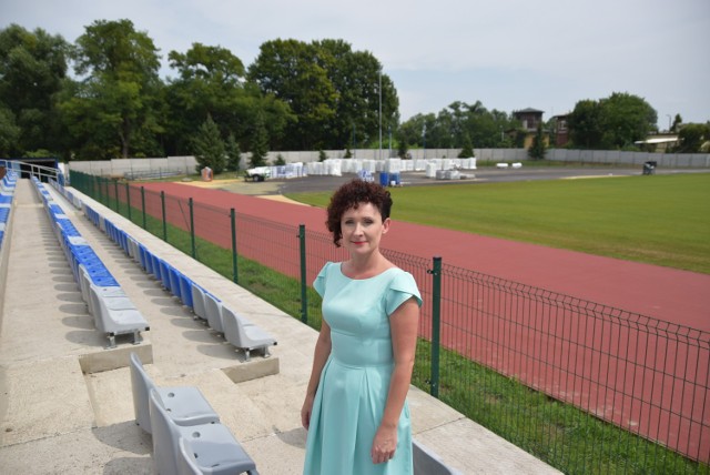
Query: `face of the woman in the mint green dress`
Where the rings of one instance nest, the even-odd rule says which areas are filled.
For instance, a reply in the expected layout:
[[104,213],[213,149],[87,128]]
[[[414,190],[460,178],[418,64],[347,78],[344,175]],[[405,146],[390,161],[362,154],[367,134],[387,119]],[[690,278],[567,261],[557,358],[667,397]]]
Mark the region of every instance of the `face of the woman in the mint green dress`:
[[369,254],[379,247],[379,240],[389,229],[389,219],[384,222],[377,206],[359,203],[341,218],[343,246],[353,255]]

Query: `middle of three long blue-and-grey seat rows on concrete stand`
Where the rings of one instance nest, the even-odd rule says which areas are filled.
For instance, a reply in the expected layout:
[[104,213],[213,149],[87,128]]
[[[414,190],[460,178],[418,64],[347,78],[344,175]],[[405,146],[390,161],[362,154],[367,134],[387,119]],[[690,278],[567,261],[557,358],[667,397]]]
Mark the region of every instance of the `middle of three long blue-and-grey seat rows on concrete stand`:
[[133,344],[141,343],[141,332],[150,330],[148,321],[91,245],[81,236],[61,205],[54,202],[44,184],[34,176],[32,182],[69,261],[81,296],[93,316],[94,326],[109,340],[106,347],[115,347],[119,335],[132,335]]

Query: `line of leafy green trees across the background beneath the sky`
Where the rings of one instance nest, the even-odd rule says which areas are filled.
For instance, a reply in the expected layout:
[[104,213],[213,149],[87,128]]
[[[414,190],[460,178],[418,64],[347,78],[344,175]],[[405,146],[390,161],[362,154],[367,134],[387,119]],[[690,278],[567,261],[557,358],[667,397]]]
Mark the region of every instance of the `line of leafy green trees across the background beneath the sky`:
[[[480,101],[400,121],[382,63],[343,40],[266,41],[248,67],[225,48],[201,43],[166,58],[174,75],[162,79],[159,49],[128,19],[97,20],[74,43],[18,24],[0,30],[0,156],[105,160],[207,150],[234,168],[242,152],[258,161],[268,150],[377,146],[381,130],[400,154],[520,142],[513,113]],[[569,118],[574,146],[590,149],[632,146],[656,121],[656,111],[629,93],[580,101]],[[693,140],[702,143],[710,134],[699,125]]]

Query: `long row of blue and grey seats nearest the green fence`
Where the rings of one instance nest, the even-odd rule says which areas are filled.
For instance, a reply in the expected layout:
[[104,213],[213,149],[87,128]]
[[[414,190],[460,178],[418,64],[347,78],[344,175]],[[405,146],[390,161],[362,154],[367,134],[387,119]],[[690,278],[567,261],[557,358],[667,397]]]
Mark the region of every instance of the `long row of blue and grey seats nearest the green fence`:
[[74,206],[82,209],[89,221],[105,232],[113,242],[123,249],[126,255],[141,265],[145,273],[152,275],[165,291],[172,293],[193,312],[196,320],[206,323],[236,350],[244,352],[246,361],[250,360],[253,351],[261,351],[265,357],[270,355],[270,347],[277,344],[272,335],[230,309],[214,293],[209,292],[168,261],[158,256],[146,245],[83,203],[64,186],[53,181],[51,184]]

